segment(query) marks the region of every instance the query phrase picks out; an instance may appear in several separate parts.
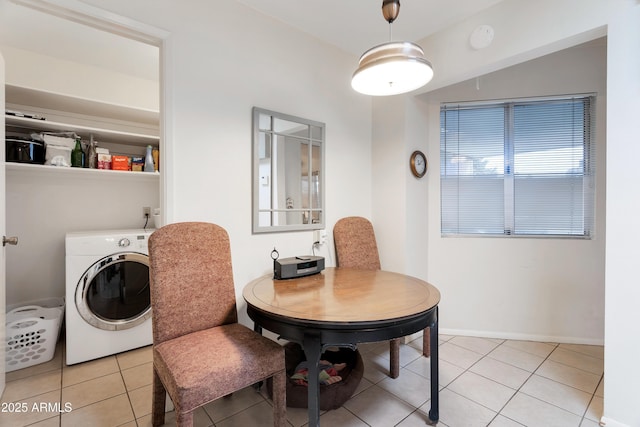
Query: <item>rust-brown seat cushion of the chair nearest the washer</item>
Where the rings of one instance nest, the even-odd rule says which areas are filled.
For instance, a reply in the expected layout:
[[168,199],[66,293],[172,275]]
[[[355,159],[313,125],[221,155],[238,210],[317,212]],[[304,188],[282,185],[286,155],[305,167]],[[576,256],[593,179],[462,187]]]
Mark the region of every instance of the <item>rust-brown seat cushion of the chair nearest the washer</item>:
[[188,412],[285,369],[278,343],[233,323],[153,346],[153,366]]

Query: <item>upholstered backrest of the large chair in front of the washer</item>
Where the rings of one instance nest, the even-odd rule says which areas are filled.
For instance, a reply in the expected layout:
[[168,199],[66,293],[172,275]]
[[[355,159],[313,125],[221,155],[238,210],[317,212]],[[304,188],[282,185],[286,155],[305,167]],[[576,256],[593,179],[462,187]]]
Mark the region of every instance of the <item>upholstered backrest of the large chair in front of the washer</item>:
[[224,228],[166,225],[149,237],[153,342],[238,321],[231,246]]

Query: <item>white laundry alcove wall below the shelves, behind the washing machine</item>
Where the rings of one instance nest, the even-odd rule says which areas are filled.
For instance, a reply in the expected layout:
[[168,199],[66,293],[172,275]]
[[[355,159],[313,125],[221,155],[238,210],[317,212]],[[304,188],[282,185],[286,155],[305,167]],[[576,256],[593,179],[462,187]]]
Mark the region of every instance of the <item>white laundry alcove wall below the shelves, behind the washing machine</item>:
[[[54,171],[57,172],[57,171]],[[65,294],[67,232],[142,228],[142,206],[158,206],[158,180],[62,171],[7,171],[7,305]]]

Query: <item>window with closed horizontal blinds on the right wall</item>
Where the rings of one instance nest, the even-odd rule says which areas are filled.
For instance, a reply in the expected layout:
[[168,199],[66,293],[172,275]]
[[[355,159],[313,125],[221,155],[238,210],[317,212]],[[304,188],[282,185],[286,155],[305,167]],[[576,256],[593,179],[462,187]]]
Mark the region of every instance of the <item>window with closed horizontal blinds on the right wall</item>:
[[442,235],[590,238],[594,101],[443,104]]

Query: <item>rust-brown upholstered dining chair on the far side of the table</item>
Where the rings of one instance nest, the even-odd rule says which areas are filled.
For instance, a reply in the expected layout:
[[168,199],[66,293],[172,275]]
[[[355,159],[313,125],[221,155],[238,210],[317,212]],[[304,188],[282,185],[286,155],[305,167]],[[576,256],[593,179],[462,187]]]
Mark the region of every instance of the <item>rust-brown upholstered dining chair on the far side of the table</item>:
[[[362,270],[380,270],[378,245],[371,222],[363,217],[350,216],[342,218],[333,227],[333,243],[339,267],[358,268]],[[425,328],[422,336],[422,354],[429,357],[429,328]],[[389,341],[389,376],[400,375],[400,338]]]

